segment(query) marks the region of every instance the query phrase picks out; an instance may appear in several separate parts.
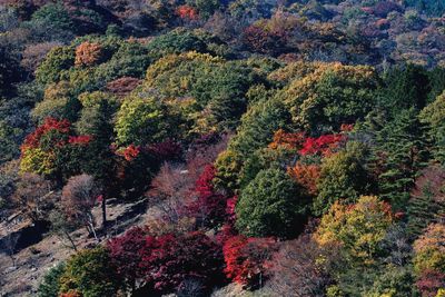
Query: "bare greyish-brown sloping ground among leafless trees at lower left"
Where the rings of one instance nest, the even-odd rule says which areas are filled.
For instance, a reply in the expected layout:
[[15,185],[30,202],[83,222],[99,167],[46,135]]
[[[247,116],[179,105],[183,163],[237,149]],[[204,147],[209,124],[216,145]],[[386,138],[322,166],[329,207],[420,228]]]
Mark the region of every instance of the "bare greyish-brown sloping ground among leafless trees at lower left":
[[[100,222],[100,207],[93,209],[95,218]],[[107,219],[109,227],[106,236],[101,236],[103,242],[107,238],[122,234],[130,226],[144,224],[142,214],[146,212],[146,201],[131,204],[113,204],[112,200],[107,207]],[[13,230],[30,226],[30,221],[21,221],[14,226]],[[0,237],[6,236],[11,229],[6,227],[6,222],[0,224]],[[98,230],[100,234],[100,229]],[[78,249],[96,245],[95,238],[89,237],[86,229],[79,229],[71,234]],[[0,296],[36,296],[38,285],[42,276],[61,260],[75,254],[65,240],[55,235],[44,235],[39,242],[26,247],[13,255],[16,265],[7,250],[0,253]]]

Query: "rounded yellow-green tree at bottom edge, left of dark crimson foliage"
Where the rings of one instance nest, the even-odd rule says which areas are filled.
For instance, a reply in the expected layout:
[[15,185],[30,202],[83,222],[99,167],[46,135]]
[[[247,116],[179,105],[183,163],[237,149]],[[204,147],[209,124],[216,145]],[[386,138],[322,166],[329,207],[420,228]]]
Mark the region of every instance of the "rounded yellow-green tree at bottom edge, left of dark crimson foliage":
[[81,296],[115,296],[121,279],[112,267],[107,250],[102,247],[86,249],[68,259],[60,279],[60,291],[76,290]]

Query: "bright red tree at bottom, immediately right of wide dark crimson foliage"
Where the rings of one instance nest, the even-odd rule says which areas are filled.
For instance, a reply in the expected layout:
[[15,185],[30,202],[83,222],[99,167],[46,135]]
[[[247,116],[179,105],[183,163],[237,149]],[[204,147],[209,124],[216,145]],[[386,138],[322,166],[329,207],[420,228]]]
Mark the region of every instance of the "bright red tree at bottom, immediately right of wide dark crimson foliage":
[[273,238],[228,238],[222,247],[227,277],[249,289],[263,287],[267,261],[276,249]]

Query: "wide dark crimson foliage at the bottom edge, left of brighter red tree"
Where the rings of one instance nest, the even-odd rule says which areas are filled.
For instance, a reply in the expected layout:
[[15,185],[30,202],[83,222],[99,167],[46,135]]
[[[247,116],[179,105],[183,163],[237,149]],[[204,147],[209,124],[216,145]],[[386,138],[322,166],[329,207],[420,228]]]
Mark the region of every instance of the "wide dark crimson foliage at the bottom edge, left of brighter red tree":
[[151,236],[134,228],[108,244],[119,274],[134,285],[144,280],[147,289],[168,293],[186,280],[197,280],[205,288],[220,281],[220,247],[202,232]]

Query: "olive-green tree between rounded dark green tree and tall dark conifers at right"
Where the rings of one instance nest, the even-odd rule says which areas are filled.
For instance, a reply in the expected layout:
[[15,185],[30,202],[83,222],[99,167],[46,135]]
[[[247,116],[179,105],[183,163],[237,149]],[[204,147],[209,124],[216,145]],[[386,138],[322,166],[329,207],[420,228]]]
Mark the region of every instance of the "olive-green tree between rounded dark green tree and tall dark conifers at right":
[[325,214],[336,200],[354,202],[370,187],[365,148],[358,142],[349,142],[346,148],[323,159],[317,181],[318,195],[314,200],[314,212]]

